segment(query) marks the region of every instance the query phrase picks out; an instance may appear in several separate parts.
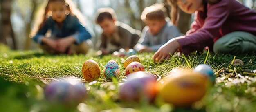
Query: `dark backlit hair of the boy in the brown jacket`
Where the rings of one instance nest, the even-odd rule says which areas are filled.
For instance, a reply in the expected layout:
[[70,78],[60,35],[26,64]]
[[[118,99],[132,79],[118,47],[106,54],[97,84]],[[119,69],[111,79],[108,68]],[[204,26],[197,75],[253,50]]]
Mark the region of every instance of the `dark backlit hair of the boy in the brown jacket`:
[[109,19],[109,20],[116,20],[116,14],[114,9],[110,8],[110,7],[103,7],[97,10],[96,12],[96,23],[99,24],[100,22],[102,22],[105,19]]

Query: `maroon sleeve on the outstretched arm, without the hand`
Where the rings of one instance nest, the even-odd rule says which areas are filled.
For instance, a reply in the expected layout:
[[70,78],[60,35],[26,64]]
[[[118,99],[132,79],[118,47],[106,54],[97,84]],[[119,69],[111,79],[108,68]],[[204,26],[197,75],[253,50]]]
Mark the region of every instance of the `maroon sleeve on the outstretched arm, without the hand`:
[[[195,50],[202,50],[209,45],[209,42],[213,41],[213,38],[218,35],[220,27],[222,27],[229,16],[228,7],[226,0],[208,5],[207,18],[204,20],[204,25],[194,33],[177,39],[184,54],[189,54]],[[195,21],[197,22],[197,20]]]

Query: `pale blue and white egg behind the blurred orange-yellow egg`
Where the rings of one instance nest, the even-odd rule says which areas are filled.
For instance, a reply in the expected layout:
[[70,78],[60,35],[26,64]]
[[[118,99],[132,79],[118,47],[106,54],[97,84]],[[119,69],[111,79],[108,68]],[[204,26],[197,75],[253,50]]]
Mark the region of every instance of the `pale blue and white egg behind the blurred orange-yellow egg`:
[[195,67],[193,72],[198,72],[203,74],[209,78],[210,81],[215,82],[215,76],[213,73],[213,69],[209,65],[201,64]]

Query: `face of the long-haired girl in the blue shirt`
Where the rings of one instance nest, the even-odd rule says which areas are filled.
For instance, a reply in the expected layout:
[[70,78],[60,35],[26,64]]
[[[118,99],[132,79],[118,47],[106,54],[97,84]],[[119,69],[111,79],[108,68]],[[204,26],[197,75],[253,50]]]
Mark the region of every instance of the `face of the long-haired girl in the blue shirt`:
[[65,11],[67,11],[67,6],[61,1],[57,0],[49,4],[49,9],[52,11],[52,19],[57,22],[63,22],[66,18]]

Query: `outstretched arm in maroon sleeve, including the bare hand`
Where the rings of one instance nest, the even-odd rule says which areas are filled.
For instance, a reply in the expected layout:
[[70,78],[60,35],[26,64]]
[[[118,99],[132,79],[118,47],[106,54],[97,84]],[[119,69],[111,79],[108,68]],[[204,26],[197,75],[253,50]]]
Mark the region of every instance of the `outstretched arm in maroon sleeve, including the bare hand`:
[[204,25],[201,28],[187,36],[171,39],[160,47],[155,53],[153,60],[168,59],[170,57],[169,53],[173,54],[179,48],[181,48],[184,54],[189,54],[195,50],[202,50],[218,35],[220,27],[222,27],[228,16],[229,10],[225,0],[208,6],[207,18],[204,20]]

